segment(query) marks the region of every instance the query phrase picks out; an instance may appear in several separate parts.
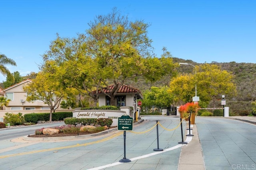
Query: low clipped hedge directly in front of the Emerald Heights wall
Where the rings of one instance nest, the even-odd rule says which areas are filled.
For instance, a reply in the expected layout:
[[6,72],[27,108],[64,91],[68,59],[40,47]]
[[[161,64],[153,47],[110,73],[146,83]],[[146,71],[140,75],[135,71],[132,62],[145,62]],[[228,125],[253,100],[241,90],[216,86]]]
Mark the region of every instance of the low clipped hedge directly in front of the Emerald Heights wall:
[[100,125],[110,127],[113,123],[113,120],[110,118],[67,118],[64,120],[66,125]]

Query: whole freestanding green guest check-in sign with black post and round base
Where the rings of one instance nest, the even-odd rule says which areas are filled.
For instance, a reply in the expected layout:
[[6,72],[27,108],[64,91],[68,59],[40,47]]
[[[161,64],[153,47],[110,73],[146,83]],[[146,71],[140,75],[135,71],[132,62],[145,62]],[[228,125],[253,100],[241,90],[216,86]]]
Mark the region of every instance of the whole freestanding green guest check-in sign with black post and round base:
[[119,162],[131,162],[130,159],[126,158],[126,131],[132,131],[133,130],[133,118],[129,115],[122,115],[121,117],[118,117],[118,124],[117,124],[117,130],[118,131],[124,131],[124,158],[119,160]]

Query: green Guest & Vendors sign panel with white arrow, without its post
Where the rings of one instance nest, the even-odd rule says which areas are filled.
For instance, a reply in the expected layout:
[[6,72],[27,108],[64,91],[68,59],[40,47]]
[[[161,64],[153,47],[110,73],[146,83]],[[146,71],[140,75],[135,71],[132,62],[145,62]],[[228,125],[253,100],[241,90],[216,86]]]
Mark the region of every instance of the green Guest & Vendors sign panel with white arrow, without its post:
[[118,131],[132,131],[133,130],[133,117],[129,115],[122,115],[118,117]]

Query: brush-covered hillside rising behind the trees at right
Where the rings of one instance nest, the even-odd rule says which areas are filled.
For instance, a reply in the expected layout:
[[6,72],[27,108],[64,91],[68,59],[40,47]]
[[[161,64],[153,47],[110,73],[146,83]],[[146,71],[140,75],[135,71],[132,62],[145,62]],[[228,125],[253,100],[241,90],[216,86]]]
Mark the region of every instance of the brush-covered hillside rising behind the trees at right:
[[[192,60],[184,60],[179,58],[173,58],[174,63],[189,63],[194,66],[200,65],[203,63],[196,63]],[[211,64],[216,64],[221,67],[222,70],[227,70],[228,72],[232,72],[235,76],[234,83],[237,87],[237,95],[235,97],[229,97],[225,95],[226,106],[230,107],[230,115],[239,115],[241,113],[251,113],[252,112],[252,104],[251,102],[256,100],[256,64],[254,63],[218,63],[212,62]],[[180,66],[177,68],[178,74],[184,73],[193,73],[193,66]],[[171,75],[165,76],[161,80],[150,83],[146,82],[142,78],[138,78],[137,81],[128,81],[126,84],[136,87],[141,90],[141,92],[145,92],[146,90],[150,90],[151,86],[161,87],[161,86],[169,86],[171,81]],[[200,91],[200,89],[197,89]],[[164,100],[164,99],[163,99]],[[212,107],[212,104],[209,104],[208,107]],[[222,107],[221,105],[221,96],[218,102],[217,107]]]

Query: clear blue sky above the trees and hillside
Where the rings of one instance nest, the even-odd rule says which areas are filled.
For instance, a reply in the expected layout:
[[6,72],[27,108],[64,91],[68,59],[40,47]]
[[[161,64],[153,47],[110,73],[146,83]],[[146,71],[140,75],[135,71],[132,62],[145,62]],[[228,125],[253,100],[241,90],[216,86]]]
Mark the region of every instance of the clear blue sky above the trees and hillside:
[[197,63],[256,63],[255,0],[1,0],[0,53],[16,61],[11,72],[38,72],[56,33],[76,37],[114,7],[151,24],[158,57],[167,47],[173,57]]

